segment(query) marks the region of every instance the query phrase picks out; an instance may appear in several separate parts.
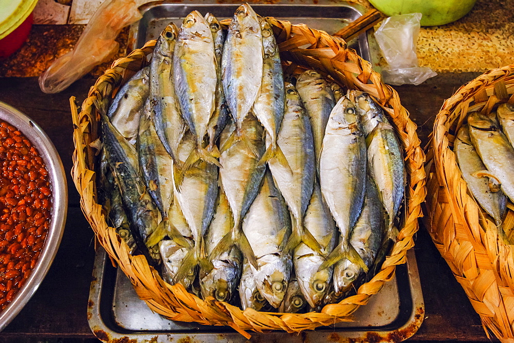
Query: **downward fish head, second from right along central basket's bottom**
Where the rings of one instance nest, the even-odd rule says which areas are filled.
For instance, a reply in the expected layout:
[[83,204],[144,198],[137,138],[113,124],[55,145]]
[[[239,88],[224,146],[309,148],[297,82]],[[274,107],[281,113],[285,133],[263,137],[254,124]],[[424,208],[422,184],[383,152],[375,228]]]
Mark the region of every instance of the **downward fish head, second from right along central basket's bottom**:
[[323,301],[332,279],[332,267],[318,271],[323,261],[321,256],[311,254],[295,259],[299,287],[313,308]]

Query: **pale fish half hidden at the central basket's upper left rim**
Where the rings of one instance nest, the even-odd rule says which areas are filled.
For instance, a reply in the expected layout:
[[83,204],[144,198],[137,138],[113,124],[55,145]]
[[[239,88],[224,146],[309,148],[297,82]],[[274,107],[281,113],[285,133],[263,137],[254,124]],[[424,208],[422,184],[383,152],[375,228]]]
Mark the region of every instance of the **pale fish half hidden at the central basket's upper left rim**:
[[132,145],[136,144],[139,117],[148,99],[150,67],[144,67],[118,90],[107,117],[114,127]]

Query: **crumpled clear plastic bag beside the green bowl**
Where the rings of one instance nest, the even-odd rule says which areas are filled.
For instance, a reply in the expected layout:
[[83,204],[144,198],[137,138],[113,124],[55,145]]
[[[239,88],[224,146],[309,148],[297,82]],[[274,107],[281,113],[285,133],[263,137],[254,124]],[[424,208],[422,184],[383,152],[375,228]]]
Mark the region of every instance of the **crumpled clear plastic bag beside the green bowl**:
[[391,85],[419,85],[437,75],[429,67],[419,67],[416,41],[421,13],[394,15],[387,18],[375,32],[375,38],[388,63],[382,78]]

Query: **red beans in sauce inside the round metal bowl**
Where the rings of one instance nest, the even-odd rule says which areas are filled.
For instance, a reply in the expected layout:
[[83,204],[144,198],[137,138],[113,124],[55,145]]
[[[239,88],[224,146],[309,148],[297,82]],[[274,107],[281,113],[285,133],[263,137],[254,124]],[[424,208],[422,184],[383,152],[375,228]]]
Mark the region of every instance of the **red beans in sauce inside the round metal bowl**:
[[51,215],[48,172],[38,150],[0,121],[0,310],[20,290],[43,248]]

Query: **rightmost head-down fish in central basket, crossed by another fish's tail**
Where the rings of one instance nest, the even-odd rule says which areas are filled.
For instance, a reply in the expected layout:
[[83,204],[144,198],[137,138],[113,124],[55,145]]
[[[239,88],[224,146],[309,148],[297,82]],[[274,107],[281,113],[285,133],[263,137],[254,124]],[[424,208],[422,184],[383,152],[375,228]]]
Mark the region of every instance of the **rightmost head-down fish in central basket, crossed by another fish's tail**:
[[[371,269],[382,243],[384,231],[384,213],[378,197],[377,188],[371,180],[366,182],[364,207],[350,236],[350,244]],[[337,262],[334,268],[334,289],[341,294],[350,289],[352,283],[365,273],[358,263],[348,259]]]

